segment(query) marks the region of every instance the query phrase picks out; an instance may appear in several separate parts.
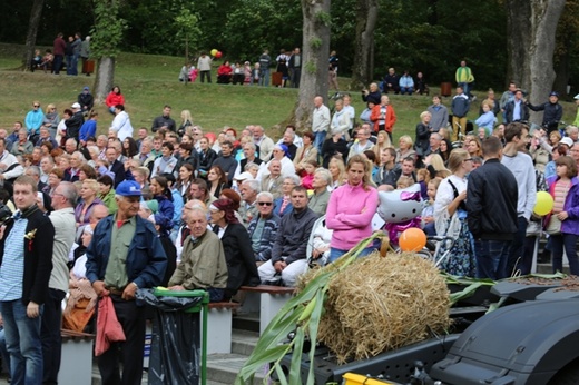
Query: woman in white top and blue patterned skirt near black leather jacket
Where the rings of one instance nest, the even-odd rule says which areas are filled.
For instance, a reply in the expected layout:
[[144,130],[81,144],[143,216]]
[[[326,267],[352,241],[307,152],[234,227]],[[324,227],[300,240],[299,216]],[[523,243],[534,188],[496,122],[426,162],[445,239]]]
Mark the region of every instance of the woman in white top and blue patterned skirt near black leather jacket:
[[[472,157],[462,148],[454,149],[449,158],[451,176],[444,178],[436,190],[434,199],[434,220],[438,235],[454,239],[448,257],[440,268],[450,275],[474,277],[474,241],[467,224],[467,174],[472,170]],[[441,255],[448,249],[448,244],[441,246]]]

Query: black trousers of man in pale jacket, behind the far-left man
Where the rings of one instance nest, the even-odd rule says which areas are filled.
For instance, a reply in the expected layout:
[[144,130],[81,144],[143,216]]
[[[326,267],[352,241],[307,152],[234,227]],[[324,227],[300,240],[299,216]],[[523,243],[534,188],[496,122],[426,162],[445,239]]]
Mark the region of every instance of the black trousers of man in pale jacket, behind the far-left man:
[[58,384],[58,371],[62,355],[62,299],[66,293],[49,288],[40,324],[40,339],[45,361],[42,384]]

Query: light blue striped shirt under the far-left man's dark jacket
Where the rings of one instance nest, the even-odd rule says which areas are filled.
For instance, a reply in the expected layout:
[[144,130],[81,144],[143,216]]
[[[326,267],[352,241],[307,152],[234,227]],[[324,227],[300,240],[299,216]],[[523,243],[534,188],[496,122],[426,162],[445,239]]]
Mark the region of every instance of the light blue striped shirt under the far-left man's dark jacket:
[[28,219],[14,220],[14,226],[4,243],[4,256],[0,266],[0,300],[14,300],[22,297],[24,276],[24,234]]

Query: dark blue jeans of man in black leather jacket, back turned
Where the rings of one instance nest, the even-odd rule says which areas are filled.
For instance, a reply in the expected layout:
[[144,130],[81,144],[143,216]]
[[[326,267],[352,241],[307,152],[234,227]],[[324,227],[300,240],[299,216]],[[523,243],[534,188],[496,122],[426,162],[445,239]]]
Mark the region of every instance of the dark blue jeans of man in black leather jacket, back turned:
[[509,240],[475,240],[477,278],[507,278],[510,246]]

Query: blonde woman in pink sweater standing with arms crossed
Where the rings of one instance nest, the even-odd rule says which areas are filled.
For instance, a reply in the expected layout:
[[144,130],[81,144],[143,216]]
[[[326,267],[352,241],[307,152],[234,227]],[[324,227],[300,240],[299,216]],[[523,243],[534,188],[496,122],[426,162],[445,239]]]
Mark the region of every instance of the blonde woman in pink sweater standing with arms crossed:
[[[333,229],[330,243],[332,263],[346,254],[360,240],[372,235],[372,217],[377,208],[377,191],[370,186],[370,162],[361,155],[351,157],[347,161],[347,182],[330,197],[326,211],[326,225]],[[361,255],[370,254],[369,247]]]

